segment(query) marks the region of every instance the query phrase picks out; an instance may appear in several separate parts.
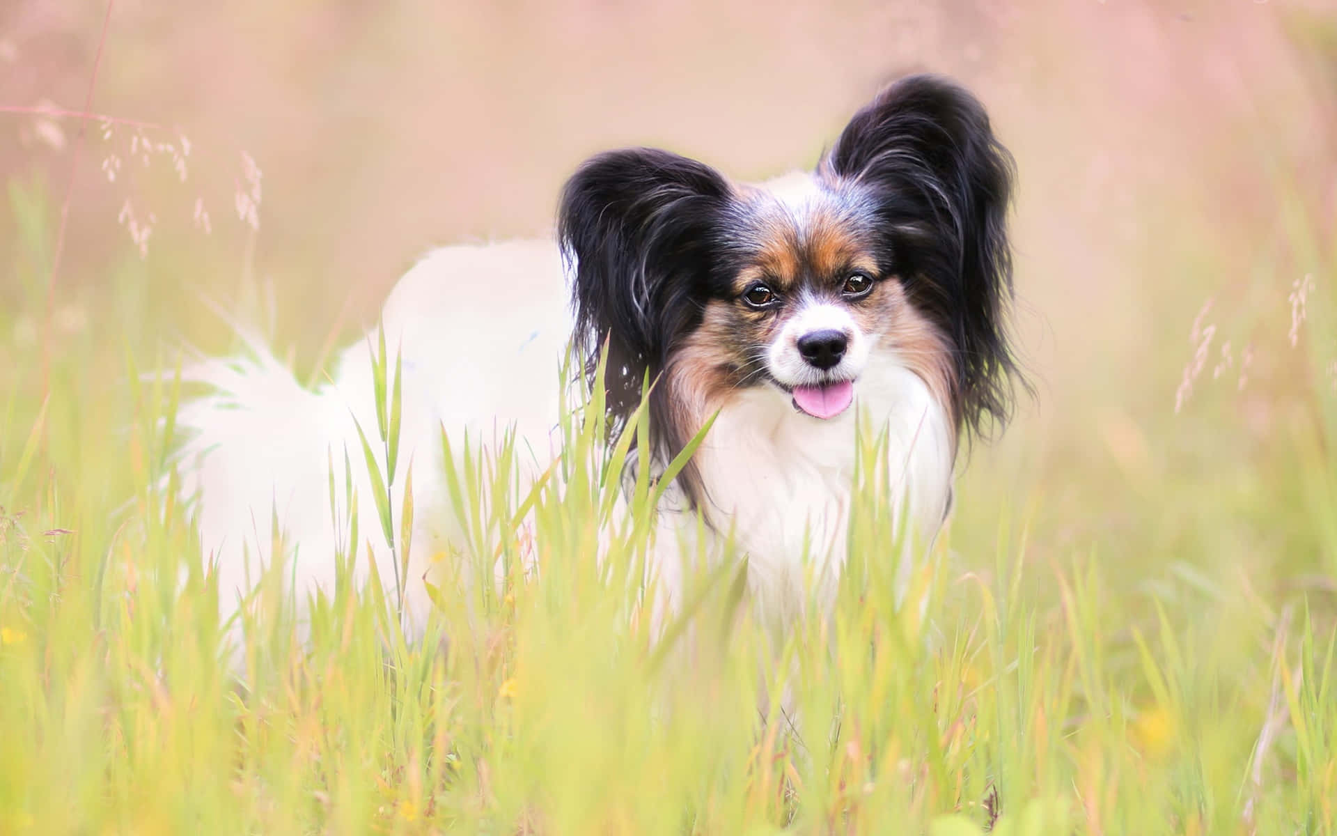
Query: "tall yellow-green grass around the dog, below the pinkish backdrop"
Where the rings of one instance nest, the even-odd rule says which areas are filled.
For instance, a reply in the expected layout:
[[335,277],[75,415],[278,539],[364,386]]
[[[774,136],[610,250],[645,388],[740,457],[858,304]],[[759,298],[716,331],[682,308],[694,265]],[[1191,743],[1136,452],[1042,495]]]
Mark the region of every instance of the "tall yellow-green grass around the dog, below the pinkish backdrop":
[[[598,421],[568,421],[562,496],[472,460],[452,474],[473,550],[508,567],[500,587],[444,585],[412,645],[400,578],[314,602],[306,645],[275,597],[238,682],[162,483],[179,393],[136,383],[171,368],[155,346],[186,302],[150,292],[138,259],[115,266],[91,322],[55,330],[44,383],[40,342],[9,334],[41,332],[53,214],[11,187],[0,832],[1337,831],[1330,296],[1294,353],[1312,369],[1288,391],[1294,420],[1255,449],[1229,447],[1234,396],[1206,384],[1187,416],[1166,397],[1123,455],[1094,427],[1054,440],[1025,419],[977,447],[904,606],[862,474],[833,611],[759,625],[726,566],[652,643],[636,581],[652,488],[615,523]],[[1294,250],[1337,286],[1337,237],[1293,215]],[[1159,392],[1187,358],[1147,372]],[[382,369],[369,448],[389,449],[396,377]],[[1183,421],[1198,429],[1169,429]],[[353,543],[394,538],[406,512],[385,504]]]

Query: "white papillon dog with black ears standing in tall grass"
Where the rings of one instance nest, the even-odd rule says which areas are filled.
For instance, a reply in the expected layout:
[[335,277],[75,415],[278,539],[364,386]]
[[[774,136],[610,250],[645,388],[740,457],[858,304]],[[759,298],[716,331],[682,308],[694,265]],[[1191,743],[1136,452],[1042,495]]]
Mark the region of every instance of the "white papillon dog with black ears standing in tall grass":
[[[563,361],[603,388],[614,437],[634,431],[648,397],[630,467],[662,474],[711,421],[663,495],[656,538],[727,535],[762,609],[802,607],[805,577],[838,577],[857,427],[882,433],[897,526],[932,540],[959,448],[1011,411],[1011,183],[980,102],[916,75],[854,114],[810,173],[749,185],[668,151],[610,151],[567,182],[555,242],[427,255],[381,316],[402,364],[398,459],[414,461],[409,621],[429,610],[433,555],[463,546],[443,432],[496,439],[504,427],[537,478],[562,453]],[[210,392],[178,416],[182,490],[225,614],[277,559],[298,601],[333,589],[349,508],[332,514],[332,478],[357,486],[364,531],[376,531],[360,437],[377,425],[373,368],[358,342],[309,389],[254,344],[187,375]],[[400,479],[393,507],[402,490]],[[389,578],[390,550],[366,539]],[[679,552],[654,552],[671,603]],[[368,567],[354,571],[362,581]]]

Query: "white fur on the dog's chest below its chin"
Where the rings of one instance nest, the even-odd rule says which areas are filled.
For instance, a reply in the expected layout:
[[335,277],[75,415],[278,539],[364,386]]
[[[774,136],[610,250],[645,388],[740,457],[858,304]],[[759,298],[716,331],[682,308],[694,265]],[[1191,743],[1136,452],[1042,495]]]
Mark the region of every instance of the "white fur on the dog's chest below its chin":
[[[909,523],[905,536],[923,546],[943,520],[952,480],[949,420],[924,381],[893,360],[872,364],[854,407],[832,420],[797,412],[769,385],[735,392],[697,451],[703,514],[717,538],[731,535],[746,554],[755,598],[777,615],[802,606],[805,589],[834,594],[848,556],[857,429],[864,449],[880,459],[858,467],[886,480],[882,502]],[[873,444],[882,431],[885,444]],[[872,547],[890,559],[897,544]]]

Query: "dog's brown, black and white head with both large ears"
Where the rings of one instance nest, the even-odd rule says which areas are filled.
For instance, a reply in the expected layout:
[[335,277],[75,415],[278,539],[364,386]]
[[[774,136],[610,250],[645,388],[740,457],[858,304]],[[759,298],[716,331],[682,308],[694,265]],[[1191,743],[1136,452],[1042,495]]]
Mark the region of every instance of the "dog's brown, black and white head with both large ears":
[[667,151],[590,159],[559,237],[590,375],[607,340],[612,427],[647,373],[656,452],[673,455],[741,391],[830,420],[889,361],[957,428],[1005,420],[1011,179],[983,106],[925,75],[858,111],[810,174],[745,186]]

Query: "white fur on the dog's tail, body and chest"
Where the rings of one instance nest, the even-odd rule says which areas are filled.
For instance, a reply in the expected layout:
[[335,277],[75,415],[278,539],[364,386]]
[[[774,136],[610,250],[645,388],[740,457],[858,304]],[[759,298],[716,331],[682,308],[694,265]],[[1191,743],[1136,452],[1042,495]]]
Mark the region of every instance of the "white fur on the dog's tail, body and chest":
[[[830,318],[825,306],[813,316]],[[806,316],[806,314],[805,314]],[[818,318],[821,318],[818,316]],[[846,314],[848,317],[848,314]],[[825,321],[825,320],[822,320]],[[431,253],[396,286],[382,313],[386,345],[402,352],[402,429],[394,507],[402,474],[413,463],[414,532],[406,609],[421,630],[429,602],[424,578],[459,544],[443,471],[440,429],[452,443],[464,431],[492,444],[513,428],[527,451],[528,478],[558,455],[554,428],[571,317],[558,247],[550,242],[455,246]],[[850,324],[852,325],[852,324]],[[861,342],[860,342],[861,340]],[[798,413],[789,396],[762,385],[741,392],[718,416],[698,453],[717,530],[733,528],[749,555],[758,606],[783,615],[802,606],[804,555],[829,598],[844,563],[854,467],[854,416],[889,429],[889,461],[901,474],[890,502],[902,500],[909,522],[932,536],[947,507],[953,460],[949,419],[916,375],[860,336],[846,362],[858,362],[854,408],[822,421]],[[289,546],[291,590],[333,590],[334,554],[346,539],[342,507],[344,452],[360,498],[361,538],[373,546],[389,589],[393,567],[377,524],[372,487],[354,419],[374,443],[369,345],[338,358],[333,383],[302,388],[262,346],[251,360],[210,361],[190,379],[214,392],[187,403],[178,417],[190,441],[182,452],[183,492],[198,499],[203,548],[217,566],[223,615],[230,615],[257,574],[270,566],[271,511]],[[337,508],[330,514],[329,463]],[[384,467],[377,453],[380,467]],[[397,515],[397,511],[396,511]],[[686,515],[663,514],[656,552],[668,599],[678,594],[674,535]],[[805,544],[812,543],[812,548]],[[357,579],[365,581],[360,566]]]

